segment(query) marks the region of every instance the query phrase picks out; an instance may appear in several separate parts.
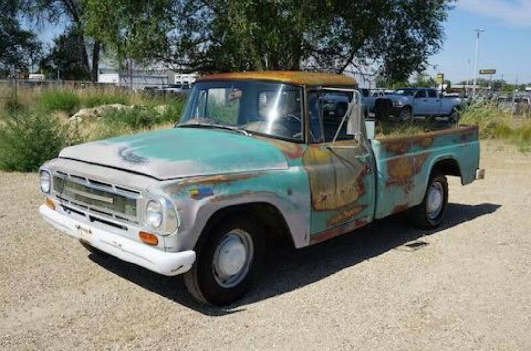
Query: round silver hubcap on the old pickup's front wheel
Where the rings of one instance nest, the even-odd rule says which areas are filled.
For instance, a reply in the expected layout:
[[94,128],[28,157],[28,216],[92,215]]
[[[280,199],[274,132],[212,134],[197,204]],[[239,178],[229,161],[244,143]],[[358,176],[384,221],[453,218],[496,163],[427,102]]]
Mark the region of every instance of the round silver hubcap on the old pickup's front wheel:
[[221,239],[214,252],[214,278],[224,288],[237,285],[247,276],[252,258],[251,235],[242,229],[231,230]]

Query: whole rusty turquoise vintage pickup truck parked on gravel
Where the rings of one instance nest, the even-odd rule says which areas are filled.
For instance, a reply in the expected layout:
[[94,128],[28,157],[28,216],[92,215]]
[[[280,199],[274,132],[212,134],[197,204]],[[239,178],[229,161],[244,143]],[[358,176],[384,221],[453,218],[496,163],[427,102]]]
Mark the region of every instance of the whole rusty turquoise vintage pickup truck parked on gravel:
[[[324,73],[204,76],[174,128],[74,145],[42,165],[39,211],[95,254],[184,273],[210,304],[245,294],[266,239],[304,247],[403,211],[438,226],[446,176],[483,177],[478,128],[374,139],[356,87]],[[333,94],[348,97],[343,116],[323,108]]]

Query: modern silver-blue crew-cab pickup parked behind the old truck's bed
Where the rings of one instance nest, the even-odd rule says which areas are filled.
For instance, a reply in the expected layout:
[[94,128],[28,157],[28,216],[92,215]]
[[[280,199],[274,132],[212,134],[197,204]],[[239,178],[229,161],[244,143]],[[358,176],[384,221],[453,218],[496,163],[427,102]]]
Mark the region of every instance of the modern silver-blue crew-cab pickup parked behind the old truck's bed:
[[409,121],[413,116],[447,117],[450,122],[459,121],[463,102],[460,98],[444,97],[435,89],[400,88],[381,100],[388,100],[390,114]]

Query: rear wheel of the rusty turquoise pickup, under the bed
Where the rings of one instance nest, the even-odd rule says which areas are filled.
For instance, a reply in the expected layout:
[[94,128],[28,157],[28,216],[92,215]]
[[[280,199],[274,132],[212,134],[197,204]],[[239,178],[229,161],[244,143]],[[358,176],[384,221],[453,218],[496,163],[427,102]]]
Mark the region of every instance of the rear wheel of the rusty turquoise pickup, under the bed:
[[446,176],[435,174],[430,177],[424,200],[411,212],[415,226],[421,229],[439,226],[447,206],[448,181]]

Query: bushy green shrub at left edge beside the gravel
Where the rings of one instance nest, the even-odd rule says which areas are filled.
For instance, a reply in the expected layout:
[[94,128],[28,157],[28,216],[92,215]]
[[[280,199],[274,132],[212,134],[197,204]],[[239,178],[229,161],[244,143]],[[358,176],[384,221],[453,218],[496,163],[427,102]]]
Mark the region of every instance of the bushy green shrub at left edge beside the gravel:
[[27,172],[81,140],[75,126],[42,112],[14,113],[0,127],[0,168]]

